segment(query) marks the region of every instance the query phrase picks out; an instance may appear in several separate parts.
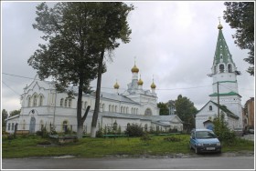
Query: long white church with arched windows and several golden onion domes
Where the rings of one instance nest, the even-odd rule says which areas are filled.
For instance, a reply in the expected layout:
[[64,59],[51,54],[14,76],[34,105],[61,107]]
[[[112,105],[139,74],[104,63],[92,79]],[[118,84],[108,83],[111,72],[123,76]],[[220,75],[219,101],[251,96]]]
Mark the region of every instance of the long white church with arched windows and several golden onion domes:
[[[97,129],[112,127],[117,124],[121,131],[126,126],[138,124],[144,130],[168,131],[170,129],[183,130],[183,122],[176,115],[159,116],[157,107],[157,95],[155,83],[151,90],[144,90],[142,79],[138,79],[139,69],[134,64],[132,68],[132,82],[128,84],[127,90],[119,92],[116,82],[113,93],[101,92],[100,113],[98,116]],[[74,92],[77,87],[69,87]],[[24,88],[21,96],[20,115],[11,116],[6,119],[6,132],[13,133],[17,124],[17,130],[27,130],[35,133],[46,126],[49,130],[54,126],[57,132],[65,129],[77,130],[77,99],[68,98],[67,93],[59,93],[53,81],[39,80],[37,75],[30,85]],[[87,106],[91,106],[90,112],[84,123],[84,133],[91,132],[91,120],[95,104],[95,92],[82,96],[82,114]]]

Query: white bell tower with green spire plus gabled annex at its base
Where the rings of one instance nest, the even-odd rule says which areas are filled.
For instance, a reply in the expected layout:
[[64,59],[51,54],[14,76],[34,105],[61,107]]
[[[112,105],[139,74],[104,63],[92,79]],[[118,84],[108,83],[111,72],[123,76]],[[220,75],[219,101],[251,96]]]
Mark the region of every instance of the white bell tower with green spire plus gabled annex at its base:
[[229,47],[222,34],[222,25],[219,24],[219,35],[216,51],[211,67],[213,92],[210,100],[203,106],[196,116],[196,128],[212,129],[215,117],[224,115],[229,128],[242,128],[241,96],[238,90],[237,67],[233,62]]

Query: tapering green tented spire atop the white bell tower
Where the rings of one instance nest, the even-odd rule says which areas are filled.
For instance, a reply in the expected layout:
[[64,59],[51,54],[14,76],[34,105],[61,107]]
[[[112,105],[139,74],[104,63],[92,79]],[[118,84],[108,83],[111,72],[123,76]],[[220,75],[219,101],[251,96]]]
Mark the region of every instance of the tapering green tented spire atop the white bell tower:
[[217,40],[217,45],[216,45],[216,50],[215,50],[215,55],[214,55],[214,61],[213,65],[218,65],[219,63],[233,63],[232,55],[229,52],[229,46],[226,43],[226,40],[224,38],[224,35],[222,34],[222,25],[218,25],[219,29],[219,35],[218,35],[218,40]]

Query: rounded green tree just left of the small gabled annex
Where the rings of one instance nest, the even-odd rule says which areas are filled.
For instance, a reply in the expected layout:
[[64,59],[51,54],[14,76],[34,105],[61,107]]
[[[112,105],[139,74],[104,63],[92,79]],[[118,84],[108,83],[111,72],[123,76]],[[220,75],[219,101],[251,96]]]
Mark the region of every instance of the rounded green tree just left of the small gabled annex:
[[176,102],[176,115],[184,122],[184,130],[191,130],[195,127],[195,116],[197,108],[186,96],[177,96]]

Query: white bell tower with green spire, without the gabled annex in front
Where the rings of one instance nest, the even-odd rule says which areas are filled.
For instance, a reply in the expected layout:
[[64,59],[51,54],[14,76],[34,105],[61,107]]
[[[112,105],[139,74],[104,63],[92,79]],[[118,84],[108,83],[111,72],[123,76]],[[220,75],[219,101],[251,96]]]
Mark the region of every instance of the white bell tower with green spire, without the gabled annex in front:
[[233,62],[222,28],[223,26],[219,22],[219,35],[215,55],[211,74],[208,75],[213,80],[213,92],[209,96],[213,102],[219,103],[221,106],[227,106],[229,111],[239,116],[239,122],[236,127],[242,127],[241,96],[239,95],[237,81],[237,75],[240,75],[240,71],[237,70]]

